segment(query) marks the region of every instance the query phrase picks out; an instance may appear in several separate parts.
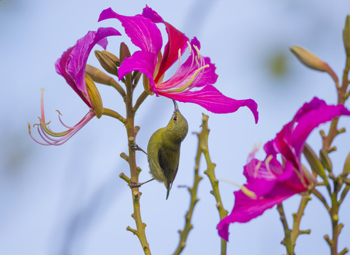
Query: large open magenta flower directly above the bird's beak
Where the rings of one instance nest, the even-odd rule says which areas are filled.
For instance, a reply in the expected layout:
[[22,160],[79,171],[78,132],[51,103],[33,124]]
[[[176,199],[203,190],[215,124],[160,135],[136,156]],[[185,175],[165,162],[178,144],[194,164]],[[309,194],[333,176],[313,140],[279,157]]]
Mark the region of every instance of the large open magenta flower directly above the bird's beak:
[[[121,64],[119,79],[137,70],[147,77],[149,88],[146,88],[146,91],[151,91],[151,94],[166,96],[180,102],[197,103],[213,113],[233,113],[241,106],[247,106],[252,111],[256,123],[258,122],[258,106],[255,101],[229,98],[212,85],[217,81],[216,67],[209,57],[200,55],[197,38],[190,42],[183,33],[165,22],[148,6],[143,8],[142,15],[136,16],[122,16],[108,8],[102,11],[99,21],[107,18],[118,19],[131,42],[141,49]],[[156,23],[163,23],[168,33],[168,43],[163,54],[160,52],[163,38]],[[187,48],[190,57],[182,63],[182,55]],[[165,72],[177,60],[177,71],[170,79],[163,81]]]

